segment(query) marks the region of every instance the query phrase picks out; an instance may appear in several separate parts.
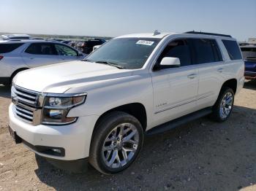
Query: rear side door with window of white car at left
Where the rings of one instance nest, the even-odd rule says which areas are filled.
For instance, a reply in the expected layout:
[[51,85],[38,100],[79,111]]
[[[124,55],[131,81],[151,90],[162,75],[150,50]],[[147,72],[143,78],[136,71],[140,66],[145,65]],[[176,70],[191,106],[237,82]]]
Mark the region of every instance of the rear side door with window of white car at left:
[[59,63],[61,61],[53,43],[48,42],[31,43],[22,53],[22,57],[30,68]]

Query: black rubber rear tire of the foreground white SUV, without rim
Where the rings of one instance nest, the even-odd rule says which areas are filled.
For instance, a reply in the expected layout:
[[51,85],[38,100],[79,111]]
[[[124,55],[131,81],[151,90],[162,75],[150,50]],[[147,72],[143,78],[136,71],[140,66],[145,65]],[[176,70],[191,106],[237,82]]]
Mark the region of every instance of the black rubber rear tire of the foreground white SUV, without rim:
[[[227,116],[222,116],[221,114],[221,105],[222,105],[222,100],[227,95],[227,93],[231,93],[233,96],[232,104],[231,104],[231,109],[230,112],[227,114]],[[213,106],[213,112],[211,114],[211,119],[217,122],[224,122],[225,120],[230,117],[230,114],[233,110],[233,104],[234,104],[234,91],[230,87],[222,87],[222,90],[220,90],[219,97],[216,101],[216,103]]]

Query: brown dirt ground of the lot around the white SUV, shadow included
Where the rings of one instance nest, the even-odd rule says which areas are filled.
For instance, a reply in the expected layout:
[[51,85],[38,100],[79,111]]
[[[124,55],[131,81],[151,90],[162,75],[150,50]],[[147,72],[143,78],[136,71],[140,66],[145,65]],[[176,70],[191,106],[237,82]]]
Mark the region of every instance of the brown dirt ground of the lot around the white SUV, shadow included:
[[256,82],[236,96],[230,120],[207,117],[146,138],[121,174],[69,174],[15,145],[7,130],[10,88],[0,86],[0,190],[256,190]]

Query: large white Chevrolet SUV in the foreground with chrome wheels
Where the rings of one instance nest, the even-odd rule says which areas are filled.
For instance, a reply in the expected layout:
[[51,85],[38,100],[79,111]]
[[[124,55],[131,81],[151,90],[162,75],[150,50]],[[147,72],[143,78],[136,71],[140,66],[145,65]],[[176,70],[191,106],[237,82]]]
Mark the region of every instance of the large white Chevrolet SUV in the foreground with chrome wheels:
[[132,34],[84,61],[22,71],[13,83],[16,143],[56,165],[88,159],[114,174],[135,160],[145,135],[206,114],[227,120],[244,85],[244,61],[227,35]]

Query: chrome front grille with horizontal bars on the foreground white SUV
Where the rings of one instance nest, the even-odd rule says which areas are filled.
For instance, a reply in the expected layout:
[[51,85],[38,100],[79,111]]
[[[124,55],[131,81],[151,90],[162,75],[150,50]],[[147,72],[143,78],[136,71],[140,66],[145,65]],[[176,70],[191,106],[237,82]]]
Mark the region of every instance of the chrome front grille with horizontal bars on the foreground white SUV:
[[42,101],[40,94],[22,87],[12,86],[12,103],[15,104],[15,115],[24,122],[39,125],[41,122]]

